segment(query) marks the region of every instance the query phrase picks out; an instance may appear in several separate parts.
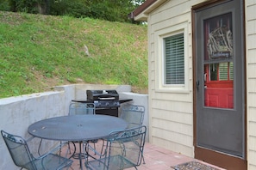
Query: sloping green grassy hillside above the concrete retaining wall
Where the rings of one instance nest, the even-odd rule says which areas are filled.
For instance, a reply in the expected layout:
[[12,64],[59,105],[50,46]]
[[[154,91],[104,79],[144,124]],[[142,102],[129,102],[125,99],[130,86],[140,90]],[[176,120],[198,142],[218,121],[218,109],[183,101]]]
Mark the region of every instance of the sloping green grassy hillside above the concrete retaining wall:
[[0,11],[0,98],[69,83],[145,91],[147,27]]

